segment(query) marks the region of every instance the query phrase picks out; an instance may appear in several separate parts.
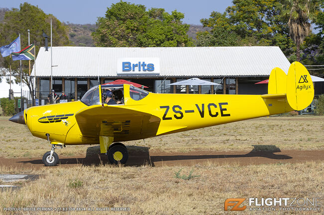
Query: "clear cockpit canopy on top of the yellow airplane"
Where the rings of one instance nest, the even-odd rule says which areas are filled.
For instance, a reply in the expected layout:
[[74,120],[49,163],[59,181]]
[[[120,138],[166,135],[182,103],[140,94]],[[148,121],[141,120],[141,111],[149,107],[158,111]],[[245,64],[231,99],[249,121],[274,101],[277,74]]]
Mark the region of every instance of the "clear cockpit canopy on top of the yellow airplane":
[[[130,85],[129,87],[129,95],[133,100],[139,101],[143,98],[145,98],[149,92],[145,91],[143,89],[137,88],[133,85]],[[124,101],[124,84],[101,84],[100,87],[99,85],[92,87],[89,89],[81,98],[81,102],[84,104],[90,106],[90,105],[98,105],[101,104],[100,101],[104,101],[104,94],[106,93],[107,90],[111,90],[113,93],[113,99],[115,101],[121,101],[121,104],[125,104]],[[101,97],[101,99],[100,99]]]

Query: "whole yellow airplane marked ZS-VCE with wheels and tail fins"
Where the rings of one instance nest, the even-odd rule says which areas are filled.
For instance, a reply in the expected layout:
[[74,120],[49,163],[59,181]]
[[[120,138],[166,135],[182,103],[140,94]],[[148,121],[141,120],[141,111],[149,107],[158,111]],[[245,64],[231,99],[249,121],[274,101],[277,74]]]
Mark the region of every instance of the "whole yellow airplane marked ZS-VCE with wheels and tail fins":
[[[123,93],[123,104],[105,104],[106,90]],[[30,107],[9,120],[26,124],[31,134],[52,144],[43,155],[46,166],[59,162],[55,148],[100,144],[111,163],[126,163],[123,141],[215,126],[302,110],[314,98],[307,69],[294,62],[286,75],[279,68],[269,77],[268,94],[156,94],[133,85],[97,85],[81,101]]]

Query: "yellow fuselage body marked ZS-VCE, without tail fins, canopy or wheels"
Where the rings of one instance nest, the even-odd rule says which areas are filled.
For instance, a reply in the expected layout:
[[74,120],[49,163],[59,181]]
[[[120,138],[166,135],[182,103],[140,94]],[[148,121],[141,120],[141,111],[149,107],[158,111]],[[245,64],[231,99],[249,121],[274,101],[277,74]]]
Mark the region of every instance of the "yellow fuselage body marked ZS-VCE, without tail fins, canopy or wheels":
[[[95,144],[99,143],[99,136],[107,136],[104,132],[111,132],[108,136],[113,136],[114,142],[132,141],[292,110],[286,98],[262,98],[261,95],[149,93],[136,101],[126,93],[125,105],[101,107],[93,113],[97,119],[88,125],[89,132],[81,132],[78,123],[82,122],[77,123],[75,115],[87,107],[81,101],[32,107],[25,111],[25,120],[33,136],[47,139],[49,134],[52,142]],[[108,107],[118,109],[108,111]],[[130,117],[122,110],[145,112],[148,116]]]

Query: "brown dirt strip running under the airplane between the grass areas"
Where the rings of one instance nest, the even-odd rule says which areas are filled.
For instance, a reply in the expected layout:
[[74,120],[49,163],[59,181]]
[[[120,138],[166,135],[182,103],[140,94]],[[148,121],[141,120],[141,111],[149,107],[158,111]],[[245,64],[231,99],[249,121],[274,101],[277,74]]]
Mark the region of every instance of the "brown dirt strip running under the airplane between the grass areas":
[[[324,150],[267,150],[267,151],[191,151],[184,153],[167,153],[162,151],[129,150],[126,166],[193,166],[196,164],[262,164],[262,163],[297,163],[306,161],[323,161]],[[89,166],[108,164],[105,154],[88,153],[79,156],[60,156],[58,167]],[[33,158],[0,158],[0,166],[43,168],[41,157]],[[48,167],[45,167],[48,168]]]

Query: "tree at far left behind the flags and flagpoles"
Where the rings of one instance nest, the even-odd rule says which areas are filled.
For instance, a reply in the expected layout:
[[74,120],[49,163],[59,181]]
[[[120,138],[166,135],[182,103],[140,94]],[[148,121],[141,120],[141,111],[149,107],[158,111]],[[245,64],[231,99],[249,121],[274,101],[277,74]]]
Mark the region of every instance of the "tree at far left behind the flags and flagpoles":
[[[42,31],[50,31],[50,18],[52,18],[53,46],[69,45],[66,27],[52,14],[45,14],[40,8],[28,3],[20,4],[20,8],[6,11],[2,23],[0,23],[0,44],[7,45],[17,38],[20,33],[21,49],[28,46],[28,32],[30,30],[30,43],[36,45],[35,53],[44,44]],[[2,58],[2,57],[0,57]],[[3,58],[2,58],[3,59]],[[2,67],[9,68],[11,64],[12,75],[15,82],[20,82],[19,62],[11,61],[9,57],[3,59]],[[34,100],[34,86],[29,78],[28,61],[22,61],[22,81],[29,88],[30,95]]]

